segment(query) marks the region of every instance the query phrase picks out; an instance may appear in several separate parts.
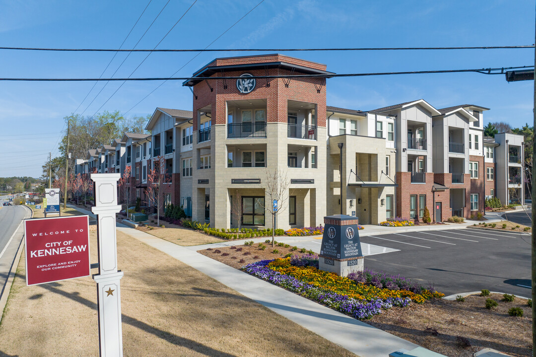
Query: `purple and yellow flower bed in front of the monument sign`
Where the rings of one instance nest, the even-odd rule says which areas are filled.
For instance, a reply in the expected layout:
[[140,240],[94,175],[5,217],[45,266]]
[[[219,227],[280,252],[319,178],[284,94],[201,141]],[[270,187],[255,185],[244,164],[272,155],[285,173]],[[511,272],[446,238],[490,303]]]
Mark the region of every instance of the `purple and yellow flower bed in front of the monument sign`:
[[[299,264],[304,262],[302,266]],[[266,280],[274,285],[286,288],[310,300],[323,303],[327,307],[360,320],[380,314],[382,309],[392,306],[405,307],[411,303],[423,303],[426,300],[440,298],[442,293],[427,290],[416,284],[416,291],[404,290],[398,285],[398,290],[387,287],[377,287],[377,284],[358,282],[358,277],[339,277],[333,273],[315,268],[318,259],[312,256],[292,259],[263,260],[245,265],[242,269],[248,274]],[[368,272],[370,279],[388,276]],[[367,280],[368,275],[363,275]],[[381,278],[378,278],[381,279]],[[395,280],[396,279],[391,279]],[[391,282],[389,280],[389,282]],[[399,282],[407,281],[399,278]],[[403,284],[401,284],[404,286]]]

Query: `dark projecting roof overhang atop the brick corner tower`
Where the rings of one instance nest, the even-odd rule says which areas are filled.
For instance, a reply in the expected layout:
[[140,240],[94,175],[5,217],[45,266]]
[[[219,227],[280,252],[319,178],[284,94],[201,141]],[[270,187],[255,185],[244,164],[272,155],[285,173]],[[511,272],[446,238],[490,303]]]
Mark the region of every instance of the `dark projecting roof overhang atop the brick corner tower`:
[[[211,77],[213,74],[219,73],[221,71],[264,70],[264,69],[271,69],[271,68],[294,70],[294,71],[298,71],[304,74],[325,74],[327,76],[326,78],[330,78],[331,74],[335,74],[333,72],[317,70],[314,68],[310,68],[306,66],[299,66],[299,65],[287,63],[287,62],[263,62],[263,63],[233,64],[233,65],[226,65],[226,66],[209,66],[194,73],[192,77],[200,77],[200,78]],[[190,80],[185,80],[184,82],[182,82],[182,85],[193,87],[197,83],[202,82],[202,81],[203,79],[190,79]]]

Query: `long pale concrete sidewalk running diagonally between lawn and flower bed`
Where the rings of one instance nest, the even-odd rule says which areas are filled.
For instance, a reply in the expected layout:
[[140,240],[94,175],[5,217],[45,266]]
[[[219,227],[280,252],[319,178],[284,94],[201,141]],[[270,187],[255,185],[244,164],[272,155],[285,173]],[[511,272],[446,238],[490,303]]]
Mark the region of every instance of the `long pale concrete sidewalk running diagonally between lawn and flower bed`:
[[400,348],[413,350],[418,347],[409,341],[229,267],[187,247],[178,246],[129,227],[117,227],[117,230],[190,265],[245,297],[257,301],[360,357],[386,357]]

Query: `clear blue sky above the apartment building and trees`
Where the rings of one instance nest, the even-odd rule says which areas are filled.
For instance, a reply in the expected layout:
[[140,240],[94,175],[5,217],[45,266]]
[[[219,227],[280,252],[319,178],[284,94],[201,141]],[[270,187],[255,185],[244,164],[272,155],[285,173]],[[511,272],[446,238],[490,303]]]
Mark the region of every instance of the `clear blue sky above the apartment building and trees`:
[[[170,0],[136,48],[152,49],[194,0]],[[158,48],[204,48],[260,0],[198,0]],[[125,41],[133,48],[167,0],[152,0]],[[148,0],[0,1],[0,46],[118,48]],[[534,1],[282,1],[265,0],[210,48],[448,47],[534,43]],[[249,52],[250,53],[250,52]],[[244,52],[154,53],[133,77],[187,77],[215,57]],[[336,73],[473,69],[534,64],[533,49],[459,51],[288,52]],[[0,51],[0,77],[96,78],[113,52]],[[128,77],[146,54],[133,53],[115,77]],[[126,57],[118,54],[104,77]],[[192,59],[192,60],[191,60]],[[190,63],[189,60],[191,60]],[[188,63],[188,64],[187,64]],[[41,176],[49,151],[57,156],[63,117],[93,115],[120,86],[99,82],[0,82],[0,177]],[[160,82],[127,82],[103,105],[147,115],[156,107],[191,110],[192,94],[169,81],[127,112]],[[532,123],[533,82],[504,75],[419,74],[334,78],[327,104],[370,110],[424,98],[436,108],[477,104],[488,121]],[[81,105],[80,105],[81,104]],[[86,109],[87,107],[87,109]]]

